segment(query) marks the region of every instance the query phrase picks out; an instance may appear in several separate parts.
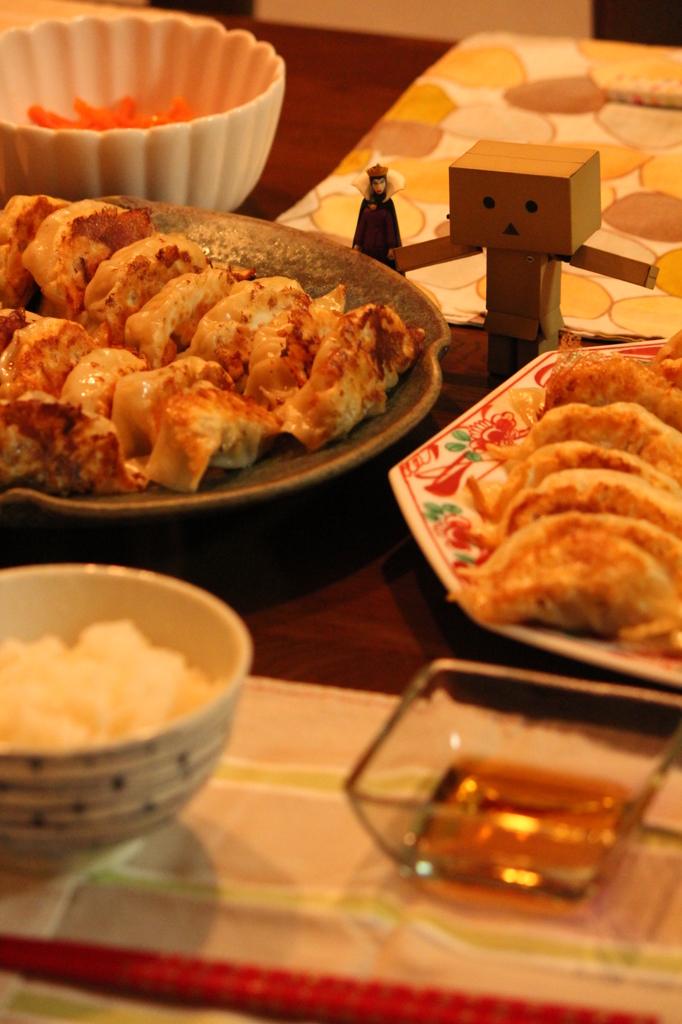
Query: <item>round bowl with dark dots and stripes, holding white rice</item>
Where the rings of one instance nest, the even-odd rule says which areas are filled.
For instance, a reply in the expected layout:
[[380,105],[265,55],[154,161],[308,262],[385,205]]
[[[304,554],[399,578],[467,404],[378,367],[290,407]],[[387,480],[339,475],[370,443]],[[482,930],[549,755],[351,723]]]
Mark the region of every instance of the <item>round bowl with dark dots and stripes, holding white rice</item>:
[[137,837],[174,815],[220,757],[252,657],[236,611],[199,587],[141,569],[0,570],[0,641],[51,634],[73,644],[89,624],[120,618],[224,685],[189,714],[104,743],[0,743],[0,859],[49,860]]

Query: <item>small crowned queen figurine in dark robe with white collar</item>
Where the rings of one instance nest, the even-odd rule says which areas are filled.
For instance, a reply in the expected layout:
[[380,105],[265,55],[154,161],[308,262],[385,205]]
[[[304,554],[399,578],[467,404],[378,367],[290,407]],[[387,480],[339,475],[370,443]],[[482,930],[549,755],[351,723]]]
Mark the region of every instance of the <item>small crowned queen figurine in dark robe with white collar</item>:
[[402,243],[391,196],[404,188],[404,178],[375,164],[359,174],[353,185],[363,196],[353,249],[395,269],[392,250]]

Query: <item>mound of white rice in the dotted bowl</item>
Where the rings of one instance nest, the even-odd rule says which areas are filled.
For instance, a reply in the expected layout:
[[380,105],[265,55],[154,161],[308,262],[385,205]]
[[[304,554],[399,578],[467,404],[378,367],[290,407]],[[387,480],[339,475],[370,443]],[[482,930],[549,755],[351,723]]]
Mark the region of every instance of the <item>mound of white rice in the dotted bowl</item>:
[[73,647],[54,636],[5,640],[0,742],[68,750],[118,739],[200,707],[223,685],[128,621],[94,623]]

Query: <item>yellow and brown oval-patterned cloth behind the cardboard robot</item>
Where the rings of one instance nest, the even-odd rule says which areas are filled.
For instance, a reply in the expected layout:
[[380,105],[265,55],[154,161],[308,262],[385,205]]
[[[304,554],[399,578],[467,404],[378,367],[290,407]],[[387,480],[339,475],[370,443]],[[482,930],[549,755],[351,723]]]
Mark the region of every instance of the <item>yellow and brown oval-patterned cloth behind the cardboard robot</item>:
[[[477,139],[581,145],[601,154],[602,227],[591,245],[659,267],[653,292],[565,268],[566,326],[586,335],[669,337],[682,328],[682,111],[607,102],[619,76],[682,82],[682,49],[602,40],[481,34],[418,78],[341,165],[281,220],[346,245],[360,197],[353,177],[381,162],[403,244],[449,233],[447,168]],[[481,323],[485,257],[415,271],[451,323]]]

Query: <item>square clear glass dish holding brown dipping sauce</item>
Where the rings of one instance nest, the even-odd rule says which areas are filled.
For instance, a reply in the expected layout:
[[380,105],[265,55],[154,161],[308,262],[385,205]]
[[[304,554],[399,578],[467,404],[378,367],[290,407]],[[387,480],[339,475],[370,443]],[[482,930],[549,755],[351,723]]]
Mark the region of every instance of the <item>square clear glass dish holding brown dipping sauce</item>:
[[682,748],[682,699],[469,662],[421,670],[346,782],[402,874],[578,902]]

